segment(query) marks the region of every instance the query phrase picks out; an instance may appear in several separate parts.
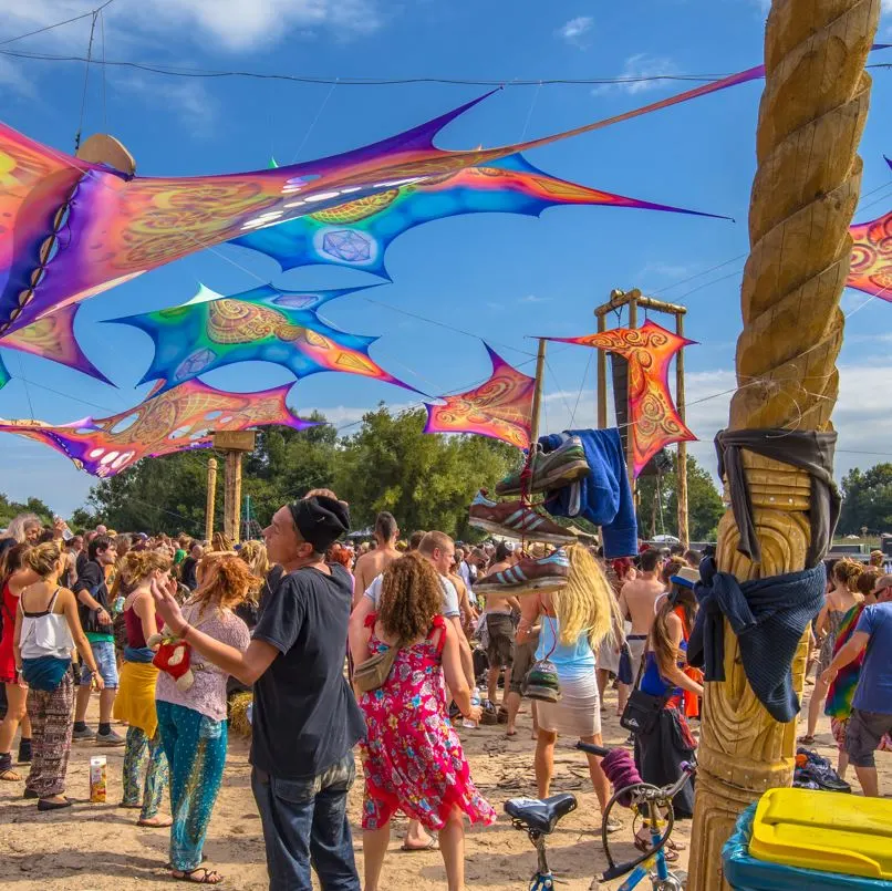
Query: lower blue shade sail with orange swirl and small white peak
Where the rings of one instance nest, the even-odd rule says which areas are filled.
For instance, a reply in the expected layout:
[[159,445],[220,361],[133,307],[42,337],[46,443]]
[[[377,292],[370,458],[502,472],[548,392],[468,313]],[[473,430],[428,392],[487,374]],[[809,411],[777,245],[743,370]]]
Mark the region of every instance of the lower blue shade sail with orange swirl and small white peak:
[[222,297],[200,286],[181,307],[111,321],[152,338],[155,356],[141,383],[160,380],[162,393],[236,362],[272,362],[298,379],[340,371],[413,390],[370,358],[376,338],[349,334],[319,318],[323,303],[363,290],[282,291],[263,284]]

